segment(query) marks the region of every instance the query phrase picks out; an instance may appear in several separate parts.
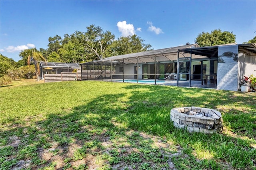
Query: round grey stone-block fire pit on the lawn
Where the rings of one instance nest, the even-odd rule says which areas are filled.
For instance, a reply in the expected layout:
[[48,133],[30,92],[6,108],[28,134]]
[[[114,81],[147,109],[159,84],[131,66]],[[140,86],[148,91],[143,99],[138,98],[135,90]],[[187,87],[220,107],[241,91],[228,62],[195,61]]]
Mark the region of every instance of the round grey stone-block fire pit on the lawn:
[[218,133],[222,131],[219,111],[201,107],[178,107],[171,110],[171,121],[177,128],[190,132]]

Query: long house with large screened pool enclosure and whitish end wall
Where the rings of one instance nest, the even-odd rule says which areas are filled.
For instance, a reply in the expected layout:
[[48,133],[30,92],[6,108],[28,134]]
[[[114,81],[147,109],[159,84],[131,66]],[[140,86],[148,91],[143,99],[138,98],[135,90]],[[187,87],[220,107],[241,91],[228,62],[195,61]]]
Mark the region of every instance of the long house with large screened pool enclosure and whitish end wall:
[[[197,44],[186,43],[178,47],[117,55],[81,64],[82,80],[206,87],[236,91],[240,77],[252,69],[247,69],[243,74],[239,74],[239,70],[242,67],[252,68],[256,65],[255,49],[254,44],[246,46],[234,43],[199,47]],[[248,64],[240,68],[238,57],[242,59],[242,56],[247,60],[240,62],[248,61]]]

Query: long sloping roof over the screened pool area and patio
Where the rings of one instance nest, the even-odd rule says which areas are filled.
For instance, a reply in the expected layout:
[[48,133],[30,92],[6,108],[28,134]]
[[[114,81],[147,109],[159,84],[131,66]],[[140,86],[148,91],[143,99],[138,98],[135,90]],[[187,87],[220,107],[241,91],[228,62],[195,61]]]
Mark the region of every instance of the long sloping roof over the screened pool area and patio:
[[[224,45],[237,45],[236,43],[224,44]],[[183,53],[182,55],[186,58],[190,53],[192,59],[218,58],[218,47],[224,45],[216,45],[209,47],[199,47],[197,44],[183,45],[178,47],[170,47],[164,49],[156,49],[151,51],[143,51],[138,53],[116,55],[102,60],[90,61],[84,64],[94,65],[116,65],[116,64],[136,64],[136,63],[152,63],[152,62],[166,62],[177,60],[177,53]],[[256,44],[240,44],[238,50],[246,55],[256,55]]]

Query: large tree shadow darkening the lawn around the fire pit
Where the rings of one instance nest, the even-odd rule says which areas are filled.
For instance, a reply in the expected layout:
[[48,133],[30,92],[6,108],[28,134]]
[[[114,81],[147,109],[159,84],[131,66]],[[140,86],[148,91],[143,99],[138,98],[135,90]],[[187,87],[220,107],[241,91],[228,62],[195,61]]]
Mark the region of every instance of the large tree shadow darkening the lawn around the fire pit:
[[[236,97],[236,93],[229,91],[152,85],[127,85],[124,88],[131,91],[128,101],[123,99],[124,93],[102,94],[67,113],[52,113],[44,121],[32,121],[29,125],[2,132],[6,140],[12,136],[13,145],[2,150],[6,154],[1,163],[8,162],[10,155],[14,155],[8,154],[11,150],[17,153],[11,159],[16,162],[4,164],[7,169],[8,166],[17,168],[21,160],[25,163],[30,160],[32,169],[255,167],[256,151],[250,146],[255,140],[226,134],[188,133],[174,128],[170,122],[173,107],[218,109],[239,102],[249,111],[255,111],[255,107],[247,102],[253,96]],[[235,119],[236,122],[232,118],[241,114],[240,111],[225,111],[224,126],[242,128],[245,125],[242,121],[248,117]],[[255,122],[255,113],[250,114],[248,124]],[[16,144],[14,137],[17,137]]]

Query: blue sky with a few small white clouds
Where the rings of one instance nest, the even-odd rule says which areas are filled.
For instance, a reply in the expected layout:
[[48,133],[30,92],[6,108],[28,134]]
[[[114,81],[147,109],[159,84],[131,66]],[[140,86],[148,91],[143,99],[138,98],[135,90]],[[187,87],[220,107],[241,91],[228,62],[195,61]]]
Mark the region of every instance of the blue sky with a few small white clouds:
[[256,36],[256,1],[0,0],[0,53],[47,48],[48,38],[86,32],[94,24],[116,38],[137,34],[160,49],[194,43],[199,33],[233,32],[238,44]]

